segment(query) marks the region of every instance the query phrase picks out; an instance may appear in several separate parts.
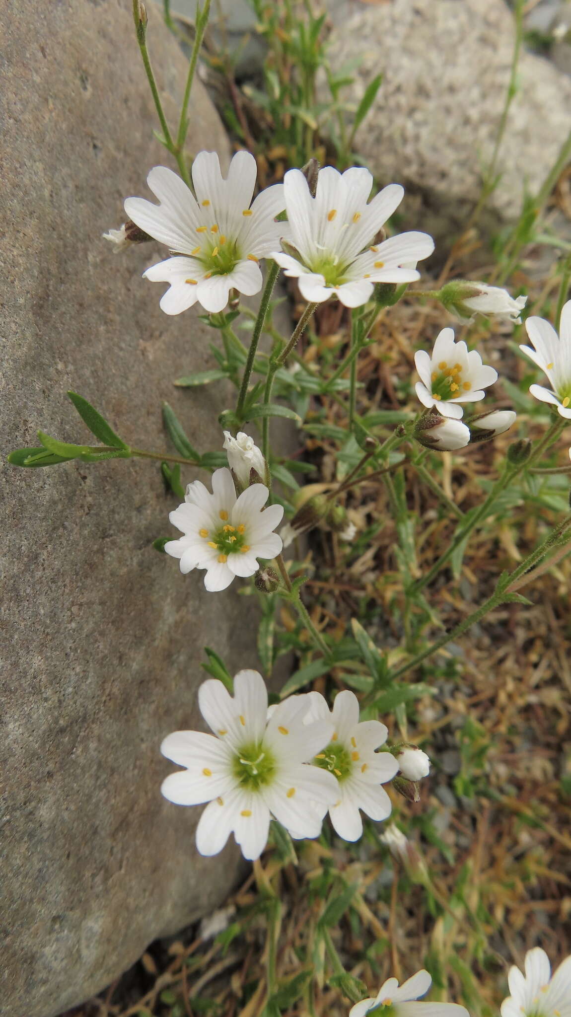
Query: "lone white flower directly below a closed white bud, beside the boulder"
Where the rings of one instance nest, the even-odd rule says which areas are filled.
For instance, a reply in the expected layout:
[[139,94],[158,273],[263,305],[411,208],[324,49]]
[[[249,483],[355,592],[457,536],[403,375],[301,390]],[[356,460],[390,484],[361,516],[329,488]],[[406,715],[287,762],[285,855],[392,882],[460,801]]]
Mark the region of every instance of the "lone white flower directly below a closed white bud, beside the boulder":
[[252,484],[240,497],[232,473],[226,468],[212,474],[212,493],[199,480],[186,489],[184,503],[169,516],[184,533],[165,544],[167,554],[180,558],[181,572],[206,569],[204,587],[226,590],[235,576],[253,576],[257,558],[274,558],[281,552],[281,538],[272,531],[281,521],[281,505],[264,508],[269,490]]

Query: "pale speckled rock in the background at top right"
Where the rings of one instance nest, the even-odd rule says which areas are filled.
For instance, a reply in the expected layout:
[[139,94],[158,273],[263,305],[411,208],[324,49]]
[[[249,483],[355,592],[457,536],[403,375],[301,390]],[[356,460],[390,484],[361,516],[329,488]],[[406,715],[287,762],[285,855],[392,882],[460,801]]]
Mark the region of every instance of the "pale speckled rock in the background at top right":
[[[513,18],[503,0],[392,0],[358,10],[334,29],[331,62],[361,61],[353,102],[383,74],[356,147],[382,184],[409,188],[407,226],[442,236],[461,228],[478,201],[512,50]],[[524,186],[541,186],[571,129],[567,76],[522,53],[518,81],[498,164],[502,179],[491,198],[496,228],[498,218],[518,216]]]

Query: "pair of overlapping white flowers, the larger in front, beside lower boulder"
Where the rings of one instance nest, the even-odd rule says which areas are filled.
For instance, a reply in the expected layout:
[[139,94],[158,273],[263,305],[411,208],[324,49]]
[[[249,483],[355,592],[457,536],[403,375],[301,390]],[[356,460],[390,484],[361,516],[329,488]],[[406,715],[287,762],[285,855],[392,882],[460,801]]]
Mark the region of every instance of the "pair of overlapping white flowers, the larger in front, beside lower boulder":
[[196,830],[201,854],[216,854],[231,832],[246,858],[258,858],[276,819],[291,836],[317,837],[327,812],[345,840],[363,832],[360,810],[374,820],[391,811],[381,784],[395,776],[390,753],[375,752],[387,729],[360,723],[354,693],[341,692],[330,712],[322,696],[291,696],[269,707],[257,671],[240,671],[232,697],[211,678],[198,691],[200,712],[212,734],[175,731],[161,751],[185,767],[163,783],[179,805],[209,802]]

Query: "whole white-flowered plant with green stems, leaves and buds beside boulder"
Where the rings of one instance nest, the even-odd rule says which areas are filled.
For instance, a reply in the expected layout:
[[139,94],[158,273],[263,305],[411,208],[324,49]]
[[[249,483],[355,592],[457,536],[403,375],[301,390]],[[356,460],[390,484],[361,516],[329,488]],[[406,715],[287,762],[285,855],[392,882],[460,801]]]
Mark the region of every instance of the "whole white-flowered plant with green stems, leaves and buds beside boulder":
[[[256,9],[262,17],[262,5],[257,3]],[[520,323],[526,298],[514,299],[504,289],[464,280],[446,283],[440,289],[408,290],[409,284],[421,279],[419,264],[432,253],[433,240],[418,231],[387,235],[387,223],[402,199],[403,189],[391,183],[371,198],[373,177],[363,167],[339,173],[330,166],[320,169],[311,159],[304,167],[290,169],[283,183],[273,184],[257,195],[256,161],[246,151],[236,153],[226,177],[215,153],[199,153],[189,167],[185,155],[189,99],[207,16],[208,2],[197,12],[196,41],[180,121],[178,129],[171,131],[147,53],[146,11],[139,0],[134,2],[137,38],[162,127],[160,140],[176,160],[179,174],[162,166],[152,168],[147,182],[156,202],[127,197],[128,221],[120,230],[111,230],[107,238],[116,250],[150,239],[163,244],[166,256],[144,273],[151,282],[168,284],[161,297],[163,310],[175,315],[198,304],[205,312],[205,320],[219,336],[220,346],[212,348],[212,368],[176,382],[182,386],[221,379],[232,382],[236,403],[220,407],[219,440],[214,441],[213,448],[196,450],[192,437],[187,436],[171,408],[165,406],[166,429],[178,455],[133,447],[85,399],[70,392],[75,409],[99,443],[72,444],[39,431],[37,447],[20,448],[9,459],[20,467],[133,457],[160,461],[166,481],[181,502],[170,515],[179,534],[157,537],[155,541],[155,547],[166,552],[165,567],[175,567],[175,562],[169,561],[171,556],[178,559],[184,574],[202,571],[205,595],[225,590],[235,580],[249,581],[262,615],[252,657],[257,651],[268,677],[278,652],[292,647],[304,650],[303,666],[277,697],[272,694],[273,702],[268,705],[268,691],[257,671],[243,670],[233,679],[215,649],[208,648],[205,669],[211,676],[200,686],[198,702],[209,733],[177,731],[162,745],[164,755],[182,768],[166,778],[165,796],[177,804],[205,805],[196,833],[198,851],[205,855],[217,853],[232,833],[244,856],[255,863],[267,905],[267,972],[263,992],[259,999],[256,997],[256,1012],[274,1017],[302,997],[311,1013],[312,991],[307,989],[311,972],[305,968],[287,991],[277,983],[280,905],[259,862],[268,838],[284,864],[296,858],[291,838],[318,838],[327,815],[336,834],[348,842],[362,837],[363,816],[376,823],[386,820],[391,799],[383,785],[392,782],[404,797],[419,800],[419,781],[428,775],[430,761],[405,737],[406,704],[430,693],[430,687],[425,682],[411,684],[400,679],[457,641],[494,608],[511,602],[527,603],[519,589],[528,574],[533,576],[534,570],[558,559],[568,548],[571,515],[565,514],[513,571],[500,576],[490,595],[471,613],[436,641],[427,642],[424,632],[434,614],[426,598],[433,581],[449,564],[453,575],[458,575],[470,536],[494,514],[517,478],[533,484],[542,471],[553,472],[553,468],[546,471],[542,462],[571,419],[571,301],[566,302],[566,272],[558,304],[560,320],[555,322],[559,335],[549,321],[528,317],[525,324],[531,347],[521,347],[549,379],[549,388],[531,384],[529,391],[551,406],[551,425],[534,442],[523,436],[511,443],[500,476],[489,485],[481,503],[462,512],[441,486],[438,471],[431,467],[431,457],[493,440],[514,425],[516,415],[512,410],[487,406],[484,412],[473,412],[472,404],[490,400],[490,390],[498,379],[496,368],[484,363],[480,353],[468,348],[464,340],[458,340],[452,327],[443,328],[437,336],[424,336],[423,344],[432,347],[431,352],[418,350],[415,362],[419,378],[416,384],[409,378],[407,392],[402,394],[404,409],[396,414],[396,426],[391,427],[390,412],[383,416],[381,411],[377,419],[374,414],[360,414],[359,357],[379,342],[375,332],[378,320],[382,317],[390,321],[391,309],[405,293],[407,300],[436,299],[462,321],[480,313],[488,317],[503,315],[508,321]],[[316,45],[320,27],[316,28],[316,24],[310,21],[309,34],[299,37],[307,53],[313,53]],[[272,52],[279,73],[284,73],[277,43]],[[303,73],[297,80],[296,87],[309,104],[315,98],[312,80]],[[300,96],[298,106],[292,95],[289,102],[290,113],[299,113]],[[303,124],[303,119],[299,122]],[[306,126],[308,123],[306,117]],[[309,140],[316,142],[314,128],[310,128],[309,135],[300,128],[296,151],[302,151]],[[350,140],[353,142],[353,135]],[[346,138],[343,143],[346,151]],[[288,336],[282,336],[273,322],[273,289],[280,270],[297,281],[303,301],[298,323]],[[261,296],[255,314],[241,304],[240,298],[256,294]],[[324,354],[321,361],[307,360],[299,355],[300,340],[311,327],[316,309],[332,301],[344,305],[351,316],[351,340],[344,356],[332,360]],[[243,342],[245,335],[250,336],[248,345]],[[271,340],[269,353],[260,349],[264,335]],[[416,410],[409,408],[415,392],[419,401]],[[294,507],[275,490],[274,482],[280,483],[281,491],[297,490],[293,473],[311,467],[275,455],[269,422],[271,418],[286,418],[316,433],[316,427],[326,425],[319,421],[316,424],[311,407],[320,407],[320,419],[325,421],[329,405],[335,406],[337,419],[340,414],[344,421],[340,433],[338,427],[328,432],[336,440],[344,472],[340,479],[317,490],[309,485],[305,496],[298,491],[300,499]],[[261,439],[250,433],[253,424],[260,427]],[[404,466],[416,470],[421,483],[436,496],[441,511],[455,526],[451,539],[424,575],[410,566],[414,529],[406,503]],[[200,468],[211,477],[207,483],[194,480],[185,485],[181,473],[185,467]],[[555,470],[563,472],[569,466]],[[340,636],[338,632],[321,631],[304,600],[307,565],[284,560],[281,553],[283,546],[317,526],[335,530],[351,553],[356,527],[347,520],[342,495],[350,490],[355,493],[361,484],[373,481],[386,485],[399,540],[405,606],[403,645],[398,652],[377,646],[357,618]],[[283,515],[289,517],[288,522],[278,530]],[[329,582],[334,585],[334,574],[329,576]],[[293,632],[279,633],[279,601],[298,613]],[[313,651],[309,649],[311,643]],[[344,672],[337,668],[338,691],[332,702],[322,695],[330,692],[326,683],[321,684],[322,692],[307,691],[314,679],[326,676],[343,661],[351,666]],[[245,666],[251,662],[245,661]],[[339,690],[339,673],[347,675],[347,683],[360,697],[354,691]],[[393,712],[397,727],[404,732],[392,745],[387,744],[387,727],[379,720],[380,711],[385,719]],[[384,839],[410,868],[414,882],[422,883],[432,893],[430,877],[414,862],[402,833],[392,827]],[[322,913],[312,933],[312,956],[321,957],[316,977],[326,975],[332,985],[342,991],[355,1004],[351,1011],[354,1017],[364,1017],[377,1008],[383,1008],[386,1015],[402,1017],[466,1014],[455,1004],[415,1002],[431,984],[425,970],[400,986],[396,978],[389,978],[376,997],[364,998],[366,986],[344,969],[330,930],[350,906],[358,906],[362,913],[365,903],[356,895],[351,881],[344,885],[340,882],[334,866],[327,869],[323,880]],[[323,968],[324,958],[327,971]],[[567,1002],[560,1001],[561,993],[569,993],[568,966],[560,968],[551,983],[547,959],[533,955],[527,966],[527,982],[515,969],[510,974],[512,996],[504,1003],[504,1017],[515,1015],[518,1006],[527,1017],[569,1014],[569,995],[565,997]],[[542,979],[549,990],[544,997],[547,1009],[533,1002]],[[526,985],[531,986],[529,992]]]

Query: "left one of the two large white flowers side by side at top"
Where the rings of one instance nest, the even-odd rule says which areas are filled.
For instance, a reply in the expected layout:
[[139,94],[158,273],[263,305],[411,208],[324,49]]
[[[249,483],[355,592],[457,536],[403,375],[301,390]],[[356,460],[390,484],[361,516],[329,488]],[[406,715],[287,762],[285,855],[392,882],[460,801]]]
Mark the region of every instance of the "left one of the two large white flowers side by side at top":
[[146,182],[161,204],[128,197],[125,212],[175,257],[147,268],[153,283],[170,283],[161,300],[167,314],[180,314],[194,303],[214,313],[224,310],[231,289],[252,296],[262,288],[258,261],[267,257],[287,225],[275,223],[283,211],[283,185],[274,184],[252,201],[256,160],[237,152],[225,180],[214,152],[200,152],[192,164],[194,194],[165,166],[155,166]]

